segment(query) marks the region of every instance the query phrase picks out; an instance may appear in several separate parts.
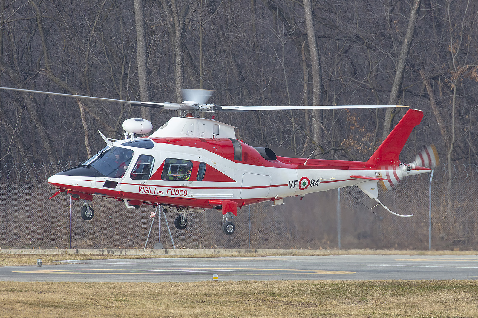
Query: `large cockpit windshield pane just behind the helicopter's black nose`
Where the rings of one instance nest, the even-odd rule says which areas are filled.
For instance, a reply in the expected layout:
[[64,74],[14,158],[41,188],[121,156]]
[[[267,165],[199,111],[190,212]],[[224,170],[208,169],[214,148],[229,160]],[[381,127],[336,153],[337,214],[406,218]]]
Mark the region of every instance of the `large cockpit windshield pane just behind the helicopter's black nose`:
[[92,162],[91,167],[98,170],[105,177],[123,178],[130,165],[131,158],[133,158],[133,154],[131,149],[112,147],[100,154]]

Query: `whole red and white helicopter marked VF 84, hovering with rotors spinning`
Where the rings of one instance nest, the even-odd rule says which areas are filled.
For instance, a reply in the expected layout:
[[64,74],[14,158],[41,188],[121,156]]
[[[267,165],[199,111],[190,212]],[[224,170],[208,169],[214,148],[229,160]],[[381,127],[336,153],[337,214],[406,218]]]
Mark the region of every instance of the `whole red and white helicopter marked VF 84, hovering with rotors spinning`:
[[[51,93],[0,87],[2,89],[70,96],[135,106],[161,107],[181,111],[149,137],[152,124],[141,118],[124,121],[122,140],[106,138],[107,146],[78,167],[59,172],[48,179],[58,191],[74,200],[85,200],[84,220],[93,218],[89,202],[93,196],[107,203],[122,201],[128,208],[160,204],[178,212],[174,225],[187,226],[186,214],[217,209],[223,214],[222,230],[234,233],[231,221],[238,208],[273,201],[282,204],[291,196],[328,191],[356,185],[387,211],[378,199],[378,182],[388,188],[405,176],[429,172],[436,150],[428,147],[412,163],[402,163],[400,152],[413,127],[423,117],[420,110],[408,110],[368,161],[301,159],[276,156],[270,148],[255,148],[237,140],[234,128],[214,119],[199,118],[200,112],[284,109],[377,108],[372,106],[217,106],[206,104],[212,91],[183,90],[183,103],[149,103],[101,97]],[[51,199],[50,198],[50,199]]]

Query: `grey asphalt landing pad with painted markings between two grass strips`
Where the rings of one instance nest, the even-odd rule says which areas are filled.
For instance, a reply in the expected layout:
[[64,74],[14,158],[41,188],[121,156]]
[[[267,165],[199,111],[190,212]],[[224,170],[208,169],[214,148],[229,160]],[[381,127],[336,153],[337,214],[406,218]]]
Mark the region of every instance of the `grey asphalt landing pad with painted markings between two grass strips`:
[[0,267],[0,281],[478,279],[478,255],[335,255],[98,259]]

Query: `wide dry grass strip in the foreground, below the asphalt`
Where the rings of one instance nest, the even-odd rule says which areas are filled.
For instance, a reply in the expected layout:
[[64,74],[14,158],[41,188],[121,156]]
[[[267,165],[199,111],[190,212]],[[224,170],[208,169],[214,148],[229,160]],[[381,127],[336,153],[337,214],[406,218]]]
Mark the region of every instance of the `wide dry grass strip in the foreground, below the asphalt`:
[[0,317],[478,317],[476,281],[2,282]]

